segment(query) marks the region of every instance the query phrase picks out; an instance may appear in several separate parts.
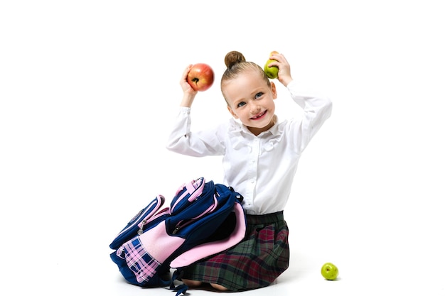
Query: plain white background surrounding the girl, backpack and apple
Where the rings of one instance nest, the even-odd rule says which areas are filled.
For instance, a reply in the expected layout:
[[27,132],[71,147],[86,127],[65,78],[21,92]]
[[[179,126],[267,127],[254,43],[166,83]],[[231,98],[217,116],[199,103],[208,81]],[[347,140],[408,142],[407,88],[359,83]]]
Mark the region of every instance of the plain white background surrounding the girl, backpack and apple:
[[124,283],[108,245],[156,194],[220,182],[220,158],[164,146],[189,63],[216,76],[194,127],[230,118],[230,50],[259,65],[278,50],[333,100],[285,210],[291,267],[243,294],[445,295],[441,1],[245,2],[1,2],[2,295],[174,295]]

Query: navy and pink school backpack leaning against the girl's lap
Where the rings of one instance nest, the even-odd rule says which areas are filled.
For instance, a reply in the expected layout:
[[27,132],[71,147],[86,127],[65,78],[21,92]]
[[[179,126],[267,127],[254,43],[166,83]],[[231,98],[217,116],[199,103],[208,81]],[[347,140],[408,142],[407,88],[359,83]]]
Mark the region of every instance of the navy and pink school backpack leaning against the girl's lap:
[[[179,272],[203,258],[235,246],[245,236],[242,195],[232,187],[200,177],[178,188],[170,207],[156,196],[117,234],[110,257],[128,283],[141,287],[175,287]],[[173,276],[170,269],[176,268]]]

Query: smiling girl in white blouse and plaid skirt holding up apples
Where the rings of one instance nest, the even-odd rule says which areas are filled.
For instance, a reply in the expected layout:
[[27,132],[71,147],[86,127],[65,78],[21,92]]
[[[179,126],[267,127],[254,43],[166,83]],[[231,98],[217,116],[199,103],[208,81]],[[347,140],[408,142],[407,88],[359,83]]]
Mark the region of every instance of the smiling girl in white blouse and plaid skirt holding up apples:
[[329,99],[299,95],[284,55],[271,55],[278,80],[301,106],[304,116],[279,122],[277,89],[262,67],[232,51],[225,56],[221,92],[233,119],[212,130],[191,132],[191,106],[197,94],[187,83],[191,65],[181,77],[183,99],[167,148],[190,156],[223,155],[224,183],[244,197],[247,219],[243,241],[184,270],[183,283],[208,283],[220,291],[270,285],[289,266],[289,229],[284,206],[304,148],[331,116]]

